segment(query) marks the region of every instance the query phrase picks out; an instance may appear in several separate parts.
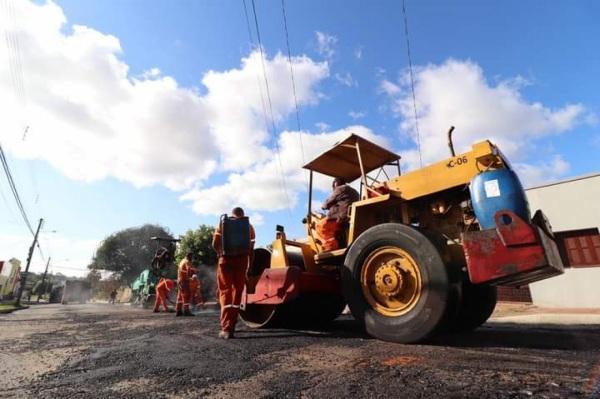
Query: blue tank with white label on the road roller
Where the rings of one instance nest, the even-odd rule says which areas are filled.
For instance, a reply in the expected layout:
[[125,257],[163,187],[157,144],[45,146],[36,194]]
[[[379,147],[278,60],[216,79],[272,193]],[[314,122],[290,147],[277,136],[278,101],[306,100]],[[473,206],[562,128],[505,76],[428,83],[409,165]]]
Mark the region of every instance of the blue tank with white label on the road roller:
[[510,169],[498,169],[478,174],[469,187],[475,216],[482,229],[496,227],[494,215],[508,210],[526,222],[531,219],[525,191],[516,173]]

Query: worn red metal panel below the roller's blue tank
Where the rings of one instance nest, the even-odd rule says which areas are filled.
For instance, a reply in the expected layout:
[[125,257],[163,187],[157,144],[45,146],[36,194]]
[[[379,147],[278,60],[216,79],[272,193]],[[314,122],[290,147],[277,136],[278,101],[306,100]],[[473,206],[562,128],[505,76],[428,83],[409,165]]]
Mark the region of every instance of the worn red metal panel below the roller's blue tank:
[[516,214],[496,214],[496,229],[463,235],[469,278],[475,284],[521,286],[562,273],[554,241]]

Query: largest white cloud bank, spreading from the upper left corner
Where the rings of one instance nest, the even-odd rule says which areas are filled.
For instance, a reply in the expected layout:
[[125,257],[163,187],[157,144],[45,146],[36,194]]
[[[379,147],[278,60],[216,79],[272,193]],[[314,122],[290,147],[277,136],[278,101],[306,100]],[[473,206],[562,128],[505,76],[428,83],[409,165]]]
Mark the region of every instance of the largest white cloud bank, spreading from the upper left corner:
[[[0,140],[20,158],[44,159],[77,180],[115,177],[182,190],[217,165],[236,170],[270,154],[257,52],[239,68],[206,73],[200,95],[157,68],[131,76],[118,38],[85,26],[67,29],[54,3],[14,2],[14,15],[0,14],[0,26],[19,42],[18,53],[0,48]],[[292,62],[299,104],[316,103],[327,63],[305,56]],[[11,79],[20,68],[25,90]],[[294,108],[287,58],[267,59],[266,72],[279,121]]]

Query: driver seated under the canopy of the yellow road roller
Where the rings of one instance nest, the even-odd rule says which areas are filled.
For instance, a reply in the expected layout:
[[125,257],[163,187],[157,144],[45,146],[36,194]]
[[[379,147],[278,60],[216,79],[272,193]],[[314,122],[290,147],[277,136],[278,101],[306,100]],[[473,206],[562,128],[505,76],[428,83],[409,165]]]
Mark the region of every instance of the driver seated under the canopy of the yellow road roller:
[[321,238],[323,250],[333,251],[340,247],[337,235],[348,222],[348,208],[358,201],[358,192],[347,185],[340,177],[333,180],[333,192],[325,200],[322,209],[328,210],[327,216],[317,223],[317,235]]

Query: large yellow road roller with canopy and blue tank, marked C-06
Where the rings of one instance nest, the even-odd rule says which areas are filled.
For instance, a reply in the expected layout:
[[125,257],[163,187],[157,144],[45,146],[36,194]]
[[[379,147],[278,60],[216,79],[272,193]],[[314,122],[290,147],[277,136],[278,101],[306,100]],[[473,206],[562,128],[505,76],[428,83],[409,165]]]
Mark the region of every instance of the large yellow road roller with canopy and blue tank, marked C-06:
[[[400,174],[400,156],[355,134],[304,166],[309,170],[307,237],[277,227],[272,249],[257,248],[243,297],[251,327],[335,319],[347,304],[379,339],[412,343],[483,324],[496,286],[522,286],[563,272],[552,228],[530,213],[515,171],[490,141]],[[325,251],[311,209],[316,174],[358,183],[361,199]]]

